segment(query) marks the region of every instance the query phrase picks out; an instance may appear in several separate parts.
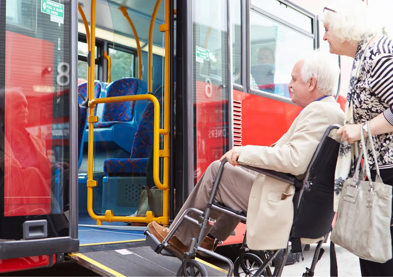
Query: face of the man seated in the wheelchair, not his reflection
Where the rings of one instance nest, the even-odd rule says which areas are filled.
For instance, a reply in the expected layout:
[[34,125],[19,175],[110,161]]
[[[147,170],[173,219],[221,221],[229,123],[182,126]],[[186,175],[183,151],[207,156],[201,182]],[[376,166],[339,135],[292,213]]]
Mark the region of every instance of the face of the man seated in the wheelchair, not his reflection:
[[303,81],[303,78],[301,77],[301,68],[303,64],[303,60],[296,62],[291,73],[292,79],[288,84],[289,89],[293,93],[292,102],[302,108],[309,104],[308,99],[310,97],[309,84]]

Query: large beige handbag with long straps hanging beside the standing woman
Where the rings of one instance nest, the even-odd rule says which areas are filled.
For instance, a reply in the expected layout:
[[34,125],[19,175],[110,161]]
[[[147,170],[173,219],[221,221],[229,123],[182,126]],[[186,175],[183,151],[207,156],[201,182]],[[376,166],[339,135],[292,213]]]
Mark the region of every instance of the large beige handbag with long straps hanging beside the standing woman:
[[[376,167],[376,179],[371,182],[363,125],[364,123],[361,126],[362,150],[354,178],[348,178],[343,185],[331,241],[361,259],[384,263],[392,258],[392,186],[384,184],[380,177],[370,123],[367,122],[369,147],[373,150]],[[364,162],[359,176],[362,153]]]

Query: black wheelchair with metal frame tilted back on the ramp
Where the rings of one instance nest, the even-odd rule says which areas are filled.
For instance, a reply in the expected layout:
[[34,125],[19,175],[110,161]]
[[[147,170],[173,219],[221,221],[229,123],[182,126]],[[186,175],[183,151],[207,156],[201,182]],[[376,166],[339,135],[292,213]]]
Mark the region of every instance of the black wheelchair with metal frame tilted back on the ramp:
[[[240,276],[240,274],[245,274],[246,276],[281,276],[285,266],[285,260],[289,253],[289,242],[291,242],[292,253],[301,253],[303,249],[300,238],[318,239],[323,237],[323,239],[318,242],[315,249],[310,268],[306,268],[306,272],[303,273],[303,276],[314,276],[316,264],[324,253],[324,249],[321,248],[321,246],[332,229],[332,221],[335,214],[333,211],[334,172],[336,170],[340,143],[330,138],[329,134],[332,130],[339,128],[341,128],[340,125],[331,125],[327,128],[323,134],[321,142],[318,144],[318,147],[312,156],[309,166],[307,167],[305,177],[301,180],[291,174],[260,169],[249,165],[241,165],[244,168],[251,169],[295,186],[295,194],[293,198],[294,220],[290,231],[290,237],[288,238],[287,247],[286,249],[283,249],[282,259],[277,257],[277,254],[281,251],[281,249],[259,251],[260,255],[255,255],[255,251],[253,251],[254,253],[250,253],[246,243],[246,236],[244,236],[239,257],[234,263],[232,263],[232,261],[227,257],[200,247],[200,244],[204,239],[204,229],[207,224],[215,221],[209,217],[212,209],[239,218],[242,223],[246,223],[247,220],[245,212],[234,211],[219,203],[213,202],[222,176],[224,164],[227,162],[226,159],[224,159],[220,164],[217,178],[213,184],[213,189],[205,211],[195,208],[189,208],[184,211],[180,220],[174,224],[173,228],[163,241],[158,240],[154,237],[154,235],[149,233],[149,231],[145,231],[146,243],[156,253],[174,257],[174,255],[165,249],[165,247],[169,246],[168,242],[173,237],[178,226],[180,226],[184,220],[187,220],[198,225],[201,229],[198,237],[191,239],[188,251],[184,253],[182,265],[180,266],[176,276],[208,276],[203,264],[195,260],[196,253],[204,253],[226,262],[229,266],[227,276],[232,276],[232,274],[234,276]],[[202,223],[189,216],[189,213],[199,215]],[[274,272],[272,272],[272,261],[275,258]],[[254,269],[253,266],[256,266],[257,268]]]

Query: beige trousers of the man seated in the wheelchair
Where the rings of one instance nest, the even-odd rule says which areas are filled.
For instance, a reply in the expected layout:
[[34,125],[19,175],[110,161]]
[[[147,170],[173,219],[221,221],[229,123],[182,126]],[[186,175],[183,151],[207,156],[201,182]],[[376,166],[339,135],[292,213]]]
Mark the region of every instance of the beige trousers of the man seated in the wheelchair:
[[[209,165],[169,229],[174,226],[174,223],[179,220],[186,209],[196,208],[202,211],[206,209],[219,166],[220,161],[214,161]],[[226,207],[236,211],[247,211],[248,198],[250,197],[251,187],[255,178],[256,176],[254,174],[240,167],[233,167],[230,163],[226,163],[214,197],[214,202],[224,204]],[[194,213],[190,213],[189,215],[202,223],[198,215]],[[235,230],[237,224],[240,222],[239,219],[233,216],[222,214],[215,210],[211,210],[210,217],[217,221],[214,226],[208,225],[206,227],[204,235],[206,236],[210,233],[213,237],[222,241],[226,240],[233,233],[233,230]],[[198,237],[199,232],[200,227],[184,220],[175,232],[175,236],[184,245],[188,246],[191,238]]]

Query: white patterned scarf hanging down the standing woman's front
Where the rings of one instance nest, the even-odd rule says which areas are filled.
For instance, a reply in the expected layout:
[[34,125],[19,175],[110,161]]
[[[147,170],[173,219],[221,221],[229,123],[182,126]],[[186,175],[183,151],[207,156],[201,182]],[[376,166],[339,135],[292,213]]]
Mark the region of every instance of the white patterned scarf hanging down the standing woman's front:
[[[367,48],[371,38],[361,40],[356,55],[354,57],[351,78],[349,79],[349,88],[347,94],[347,103],[345,104],[345,121],[344,124],[355,124],[353,118],[353,98],[355,95],[354,87],[359,81],[360,68],[364,59],[364,51]],[[347,178],[354,176],[355,161],[359,157],[358,142],[350,144],[347,141],[341,140],[340,151],[338,153],[336,173],[334,174],[334,205],[333,209],[337,212],[338,202],[340,201],[340,194],[343,183]]]

